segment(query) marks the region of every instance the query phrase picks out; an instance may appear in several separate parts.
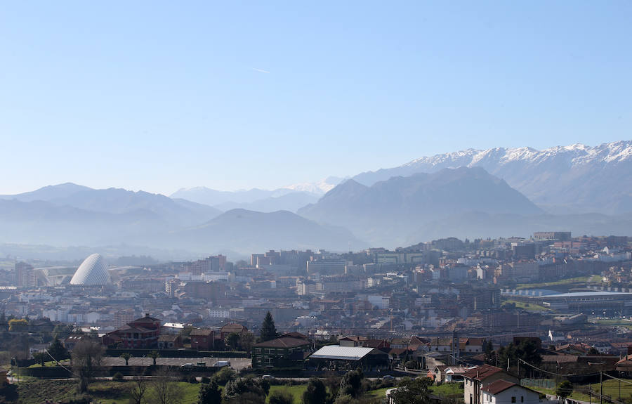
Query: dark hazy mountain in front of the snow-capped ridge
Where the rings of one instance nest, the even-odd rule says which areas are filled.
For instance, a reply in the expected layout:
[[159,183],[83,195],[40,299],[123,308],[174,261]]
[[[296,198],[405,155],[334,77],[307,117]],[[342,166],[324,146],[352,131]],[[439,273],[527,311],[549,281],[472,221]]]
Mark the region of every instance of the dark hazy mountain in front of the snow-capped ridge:
[[442,169],[391,177],[370,187],[351,179],[298,214],[345,226],[372,245],[397,247],[423,223],[456,214],[536,215],[543,211],[482,168]]

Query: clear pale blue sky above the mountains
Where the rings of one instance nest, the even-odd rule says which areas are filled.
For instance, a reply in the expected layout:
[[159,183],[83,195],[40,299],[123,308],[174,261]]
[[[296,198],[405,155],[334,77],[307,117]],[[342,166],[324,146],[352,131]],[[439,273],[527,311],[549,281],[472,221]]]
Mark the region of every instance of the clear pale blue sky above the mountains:
[[0,193],[631,138],[631,1],[5,1]]

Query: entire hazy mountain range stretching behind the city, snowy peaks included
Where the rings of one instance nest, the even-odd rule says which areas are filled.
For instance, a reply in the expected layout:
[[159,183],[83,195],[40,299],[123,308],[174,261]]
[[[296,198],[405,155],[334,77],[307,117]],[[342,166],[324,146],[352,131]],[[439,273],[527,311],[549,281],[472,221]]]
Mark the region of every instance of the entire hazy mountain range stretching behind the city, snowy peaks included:
[[540,230],[627,235],[630,211],[632,141],[619,141],[469,149],[277,190],[202,187],[168,197],[49,185],[0,195],[0,243],[340,251]]

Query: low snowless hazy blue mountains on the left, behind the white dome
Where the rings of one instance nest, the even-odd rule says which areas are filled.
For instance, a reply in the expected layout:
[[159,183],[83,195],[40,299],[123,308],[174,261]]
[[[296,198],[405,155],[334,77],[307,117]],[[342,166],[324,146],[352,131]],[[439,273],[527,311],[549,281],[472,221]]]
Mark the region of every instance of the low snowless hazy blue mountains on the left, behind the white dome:
[[125,243],[244,255],[275,247],[338,251],[367,247],[348,230],[322,226],[289,211],[234,209],[222,214],[205,204],[164,195],[119,188],[95,190],[72,183],[1,195],[0,228],[0,243],[53,247]]

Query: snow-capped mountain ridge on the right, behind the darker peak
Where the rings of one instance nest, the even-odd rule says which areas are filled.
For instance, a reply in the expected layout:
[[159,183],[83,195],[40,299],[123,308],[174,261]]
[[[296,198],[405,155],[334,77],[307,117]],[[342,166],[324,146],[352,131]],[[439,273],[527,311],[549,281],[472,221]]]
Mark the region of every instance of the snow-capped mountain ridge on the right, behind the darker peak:
[[632,141],[594,147],[574,144],[544,150],[468,149],[421,157],[390,169],[367,171],[353,179],[372,185],[392,176],[456,167],[482,167],[553,213],[632,211]]

